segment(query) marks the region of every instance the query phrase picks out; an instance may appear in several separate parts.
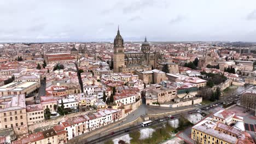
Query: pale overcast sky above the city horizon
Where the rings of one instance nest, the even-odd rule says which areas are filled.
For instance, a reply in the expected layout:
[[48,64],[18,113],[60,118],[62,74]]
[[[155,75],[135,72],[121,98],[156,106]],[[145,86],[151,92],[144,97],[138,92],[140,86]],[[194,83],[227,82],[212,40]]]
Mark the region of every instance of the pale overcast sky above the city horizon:
[[0,43],[253,41],[255,0],[2,0]]

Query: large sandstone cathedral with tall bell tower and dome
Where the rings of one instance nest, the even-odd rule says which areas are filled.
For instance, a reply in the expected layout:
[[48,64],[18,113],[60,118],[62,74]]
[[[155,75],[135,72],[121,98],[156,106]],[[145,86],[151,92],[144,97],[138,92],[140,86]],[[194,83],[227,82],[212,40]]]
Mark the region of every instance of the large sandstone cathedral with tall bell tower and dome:
[[150,45],[145,38],[141,51],[125,52],[124,39],[118,28],[114,39],[113,70],[114,73],[134,73],[135,70],[152,70],[159,68],[159,63],[165,62],[164,55],[159,52],[152,52]]

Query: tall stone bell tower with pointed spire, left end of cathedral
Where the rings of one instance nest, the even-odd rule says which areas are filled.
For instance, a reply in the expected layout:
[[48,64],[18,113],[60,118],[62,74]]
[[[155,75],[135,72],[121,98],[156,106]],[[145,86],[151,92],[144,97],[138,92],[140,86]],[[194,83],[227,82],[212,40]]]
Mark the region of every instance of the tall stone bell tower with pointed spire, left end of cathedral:
[[122,67],[123,65],[125,65],[124,57],[125,57],[125,55],[124,55],[124,39],[120,35],[119,27],[118,27],[117,36],[115,36],[115,39],[114,39],[114,58],[113,58],[114,73],[121,72],[119,70],[119,67]]

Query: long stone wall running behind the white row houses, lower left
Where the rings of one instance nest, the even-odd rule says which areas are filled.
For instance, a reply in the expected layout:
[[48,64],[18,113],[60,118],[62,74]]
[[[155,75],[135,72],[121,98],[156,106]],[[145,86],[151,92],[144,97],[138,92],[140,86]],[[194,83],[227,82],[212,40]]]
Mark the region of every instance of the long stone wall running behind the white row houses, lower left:
[[86,112],[78,112],[78,113],[71,113],[71,114],[66,115],[66,116],[60,116],[60,117],[56,117],[56,118],[53,118],[53,119],[45,120],[43,122],[28,125],[28,132],[29,133],[34,133],[34,132],[37,132],[37,131],[41,131],[42,129],[50,128],[50,127],[53,127],[54,125],[59,124],[60,122],[66,121],[69,118],[73,118],[73,117],[77,117],[77,116],[81,116],[81,115],[87,115],[88,113],[94,113],[94,112],[96,112],[96,110],[86,111]]

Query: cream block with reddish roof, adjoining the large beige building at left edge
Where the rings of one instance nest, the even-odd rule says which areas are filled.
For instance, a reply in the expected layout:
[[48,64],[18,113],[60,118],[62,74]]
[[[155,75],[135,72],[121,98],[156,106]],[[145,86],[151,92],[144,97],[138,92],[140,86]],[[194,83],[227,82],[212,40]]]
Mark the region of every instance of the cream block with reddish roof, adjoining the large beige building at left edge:
[[42,104],[27,105],[26,111],[28,125],[44,121],[44,109]]

